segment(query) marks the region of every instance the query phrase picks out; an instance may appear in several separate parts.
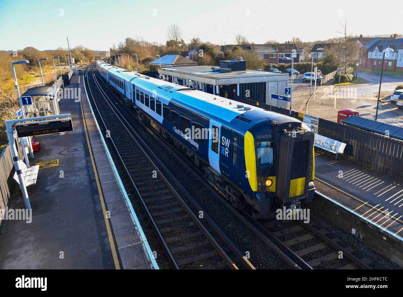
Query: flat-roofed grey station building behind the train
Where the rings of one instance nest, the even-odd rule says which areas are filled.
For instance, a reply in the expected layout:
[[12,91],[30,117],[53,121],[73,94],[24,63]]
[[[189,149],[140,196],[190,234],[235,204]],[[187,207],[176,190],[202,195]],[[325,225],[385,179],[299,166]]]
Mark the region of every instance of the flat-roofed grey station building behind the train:
[[[250,99],[270,104],[270,95],[285,94],[288,73],[246,69],[246,61],[220,61],[218,66],[158,68],[161,79],[210,94],[243,102]],[[273,106],[287,108],[288,102],[272,100]]]

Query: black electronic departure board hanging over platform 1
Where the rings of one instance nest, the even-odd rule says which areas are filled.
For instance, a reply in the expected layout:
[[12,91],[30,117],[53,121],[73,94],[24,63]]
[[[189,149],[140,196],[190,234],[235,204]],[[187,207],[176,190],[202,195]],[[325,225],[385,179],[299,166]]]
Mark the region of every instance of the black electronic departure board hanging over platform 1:
[[71,117],[15,125],[18,137],[38,136],[73,131]]

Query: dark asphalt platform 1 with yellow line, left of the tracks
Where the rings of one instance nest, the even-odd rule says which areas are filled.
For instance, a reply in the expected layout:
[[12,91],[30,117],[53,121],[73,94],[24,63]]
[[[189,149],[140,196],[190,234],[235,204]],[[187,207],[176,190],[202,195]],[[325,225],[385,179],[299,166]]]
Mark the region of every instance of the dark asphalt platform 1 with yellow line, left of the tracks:
[[[81,100],[59,101],[74,131],[35,138],[41,151],[29,160],[39,165],[27,188],[31,222],[5,220],[0,269],[158,269],[82,82],[73,76],[65,86]],[[24,208],[17,192],[9,209]]]

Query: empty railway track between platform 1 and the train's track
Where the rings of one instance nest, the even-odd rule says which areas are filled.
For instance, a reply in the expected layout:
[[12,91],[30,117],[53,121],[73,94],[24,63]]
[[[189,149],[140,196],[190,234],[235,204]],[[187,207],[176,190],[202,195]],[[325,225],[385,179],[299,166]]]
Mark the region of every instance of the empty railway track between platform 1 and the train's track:
[[[89,99],[172,268],[241,268],[238,264],[255,269],[125,121],[102,90],[93,68],[90,65],[85,71]],[[203,214],[214,234],[200,222],[196,211]]]

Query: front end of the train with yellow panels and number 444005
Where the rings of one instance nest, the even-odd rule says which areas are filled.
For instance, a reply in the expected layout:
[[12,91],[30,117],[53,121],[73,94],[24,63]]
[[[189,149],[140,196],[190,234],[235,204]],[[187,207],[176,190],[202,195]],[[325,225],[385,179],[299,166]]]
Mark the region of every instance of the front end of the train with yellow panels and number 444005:
[[[267,127],[267,126],[266,126]],[[301,128],[283,129],[271,138],[247,131],[245,165],[253,191],[249,200],[260,213],[287,207],[298,209],[314,195],[314,133]],[[266,130],[267,131],[267,130]],[[277,135],[277,136],[276,136]]]

